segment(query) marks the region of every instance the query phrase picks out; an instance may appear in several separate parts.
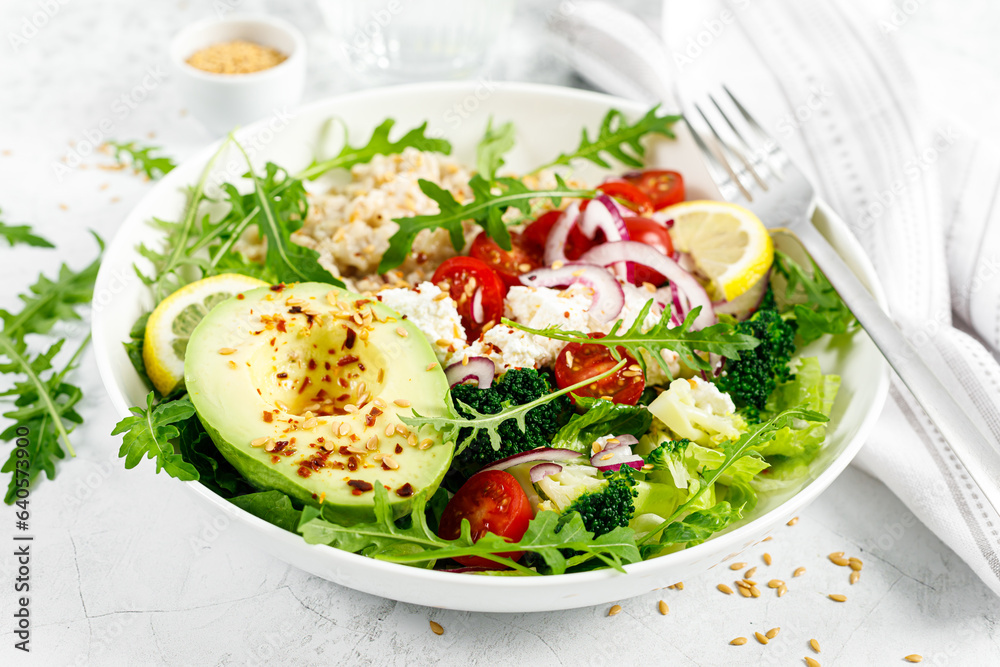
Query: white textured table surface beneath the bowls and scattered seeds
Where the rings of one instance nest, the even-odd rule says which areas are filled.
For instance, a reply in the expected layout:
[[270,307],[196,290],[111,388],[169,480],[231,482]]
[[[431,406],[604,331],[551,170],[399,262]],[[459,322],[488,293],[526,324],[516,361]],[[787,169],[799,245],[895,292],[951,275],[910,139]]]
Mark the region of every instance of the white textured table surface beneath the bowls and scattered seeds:
[[[329,66],[332,46],[313,3],[295,3],[295,9],[278,2],[232,4],[282,14],[307,32],[307,100],[352,88]],[[647,3],[629,4],[655,11]],[[902,4],[914,11],[893,38],[934,93],[934,108],[957,110],[976,127],[995,123],[1000,6],[985,0]],[[129,174],[95,168],[60,177],[54,165],[70,144],[101,132],[105,120],[110,138],[145,139],[180,159],[210,140],[183,113],[174,84],[161,73],[169,36],[211,12],[209,3],[183,1],[7,0],[0,6],[0,207],[8,223],[31,223],[59,246],[0,249],[0,307],[13,305],[14,294],[39,269],[89,261],[94,244],[87,229],[111,237],[149,189]],[[541,15],[537,6],[520,9],[495,76],[579,85],[545,48]],[[144,77],[148,94],[132,92]],[[122,106],[122,95],[145,99]],[[84,327],[60,332],[80,337]],[[75,434],[79,455],[31,496],[37,537],[30,655],[13,649],[15,564],[8,547],[0,549],[0,664],[794,665],[813,655],[811,638],[822,646],[815,657],[824,665],[901,664],[911,653],[922,654],[925,664],[1000,663],[1000,602],[884,486],[854,469],[798,525],[764,545],[772,566],[764,566],[760,553],[751,556],[759,580],[789,581],[781,599],[772,591],[758,600],[723,596],[715,591],[722,575],[712,573],[684,582],[683,591],[623,601],[614,618],[606,618],[606,608],[466,614],[375,598],[309,576],[249,546],[180,484],[154,476],[151,466],[125,471],[118,443],[108,435],[116,416],[92,358],[77,377],[86,394],[86,424]],[[0,508],[5,545],[13,523],[13,511]],[[847,571],[826,560],[833,551],[864,560],[857,585],[848,585]],[[792,579],[799,566],[807,573]],[[848,602],[827,600],[832,592],[846,593]],[[670,606],[666,617],[656,609],[661,598]],[[445,628],[443,636],[430,632],[429,619]],[[727,644],[775,626],[781,634],[768,646]]]

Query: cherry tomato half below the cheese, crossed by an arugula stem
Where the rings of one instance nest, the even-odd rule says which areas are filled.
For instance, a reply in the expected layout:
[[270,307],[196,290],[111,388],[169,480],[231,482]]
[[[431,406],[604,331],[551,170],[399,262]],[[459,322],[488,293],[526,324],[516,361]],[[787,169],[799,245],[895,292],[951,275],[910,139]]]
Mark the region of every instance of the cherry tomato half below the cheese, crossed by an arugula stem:
[[[592,333],[590,337],[603,338],[604,334]],[[618,354],[628,360],[624,368],[615,371],[603,380],[577,389],[570,394],[570,397],[606,398],[612,403],[635,405],[639,396],[642,395],[642,390],[646,388],[646,381],[641,370],[638,370],[639,366],[635,358],[628,354],[624,347],[618,347]],[[563,348],[556,359],[556,384],[559,385],[560,389],[565,389],[578,382],[583,382],[587,378],[600,375],[617,363],[611,355],[611,350],[604,345],[570,343]]]

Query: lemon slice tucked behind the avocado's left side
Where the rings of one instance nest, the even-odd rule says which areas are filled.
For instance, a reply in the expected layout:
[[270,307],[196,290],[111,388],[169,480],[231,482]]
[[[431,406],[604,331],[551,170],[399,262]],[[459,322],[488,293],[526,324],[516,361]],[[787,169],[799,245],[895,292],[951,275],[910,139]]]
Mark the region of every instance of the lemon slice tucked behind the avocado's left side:
[[146,322],[142,360],[146,374],[161,394],[169,394],[184,379],[184,352],[191,332],[215,306],[229,297],[267,283],[224,273],[177,290],[153,310]]

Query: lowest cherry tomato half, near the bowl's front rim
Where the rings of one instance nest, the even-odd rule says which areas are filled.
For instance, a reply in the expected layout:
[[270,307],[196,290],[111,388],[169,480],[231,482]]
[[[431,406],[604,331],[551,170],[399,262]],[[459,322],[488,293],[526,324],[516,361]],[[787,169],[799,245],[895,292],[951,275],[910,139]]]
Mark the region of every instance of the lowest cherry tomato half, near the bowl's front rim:
[[[457,539],[461,534],[462,519],[468,519],[472,541],[478,542],[486,533],[516,542],[524,537],[531,521],[531,503],[524,489],[514,476],[503,470],[477,472],[458,490],[441,514],[438,537]],[[523,551],[496,554],[518,560]],[[491,560],[479,556],[459,556],[459,563],[466,567],[500,568]]]

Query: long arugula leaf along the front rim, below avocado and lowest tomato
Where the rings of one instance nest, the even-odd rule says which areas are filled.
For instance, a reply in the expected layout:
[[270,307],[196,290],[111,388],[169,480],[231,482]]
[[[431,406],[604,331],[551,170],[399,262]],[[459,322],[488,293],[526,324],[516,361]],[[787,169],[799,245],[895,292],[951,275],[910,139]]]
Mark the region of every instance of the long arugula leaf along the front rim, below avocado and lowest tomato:
[[394,563],[415,564],[444,558],[480,556],[507,565],[524,575],[538,573],[494,554],[508,551],[536,553],[553,574],[566,571],[567,559],[561,553],[562,549],[581,551],[618,570],[639,559],[631,530],[618,528],[595,539],[576,513],[568,521],[564,521],[564,517],[555,512],[539,512],[528,524],[524,536],[516,542],[508,542],[493,533],[487,533],[473,541],[469,522],[463,519],[459,537],[445,540],[438,537],[427,524],[424,494],[414,497],[412,523],[407,527],[400,527],[392,519],[392,509],[385,488],[375,485],[374,493],[374,522],[342,526],[323,519],[320,510],[306,507],[302,512],[299,532],[310,544],[328,544]]

